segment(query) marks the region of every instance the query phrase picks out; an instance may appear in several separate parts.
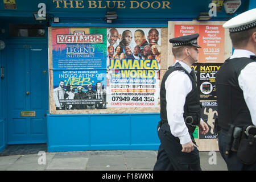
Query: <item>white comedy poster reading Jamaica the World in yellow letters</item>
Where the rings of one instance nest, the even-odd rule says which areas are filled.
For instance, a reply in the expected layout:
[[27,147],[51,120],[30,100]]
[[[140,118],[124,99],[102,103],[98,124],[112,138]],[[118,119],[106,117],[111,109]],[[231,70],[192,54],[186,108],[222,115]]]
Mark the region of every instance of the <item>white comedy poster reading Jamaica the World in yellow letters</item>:
[[108,28],[109,107],[159,107],[159,28]]

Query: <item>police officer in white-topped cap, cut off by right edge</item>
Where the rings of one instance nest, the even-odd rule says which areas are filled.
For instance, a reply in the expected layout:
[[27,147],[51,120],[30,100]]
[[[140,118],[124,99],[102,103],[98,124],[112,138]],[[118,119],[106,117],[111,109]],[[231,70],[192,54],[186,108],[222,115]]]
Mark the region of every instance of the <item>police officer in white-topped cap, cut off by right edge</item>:
[[256,170],[256,9],[223,27],[234,52],[216,74],[218,146],[229,170]]

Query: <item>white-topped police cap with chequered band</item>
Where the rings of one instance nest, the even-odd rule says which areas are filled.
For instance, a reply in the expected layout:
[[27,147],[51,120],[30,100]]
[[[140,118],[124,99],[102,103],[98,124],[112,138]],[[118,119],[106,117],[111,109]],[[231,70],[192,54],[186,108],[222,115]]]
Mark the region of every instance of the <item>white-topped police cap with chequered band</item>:
[[228,20],[223,24],[223,27],[229,28],[229,32],[240,32],[256,27],[256,8],[245,11]]

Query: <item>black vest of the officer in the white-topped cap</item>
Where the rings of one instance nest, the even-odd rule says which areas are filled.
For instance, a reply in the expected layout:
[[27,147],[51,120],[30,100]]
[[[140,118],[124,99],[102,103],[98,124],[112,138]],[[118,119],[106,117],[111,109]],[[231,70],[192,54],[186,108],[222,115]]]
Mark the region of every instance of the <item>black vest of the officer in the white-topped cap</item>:
[[231,123],[240,127],[253,125],[243,91],[238,84],[241,70],[252,62],[254,60],[246,57],[228,59],[216,73],[218,125],[221,129],[228,130]]

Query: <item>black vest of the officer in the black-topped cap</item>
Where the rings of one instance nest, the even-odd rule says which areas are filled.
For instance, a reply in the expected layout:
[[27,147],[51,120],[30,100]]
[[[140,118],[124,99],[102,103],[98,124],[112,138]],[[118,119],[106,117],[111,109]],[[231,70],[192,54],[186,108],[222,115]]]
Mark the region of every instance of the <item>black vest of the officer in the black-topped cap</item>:
[[[190,80],[192,81],[192,90],[187,94],[185,98],[183,118],[185,119],[187,116],[192,116],[194,120],[193,125],[198,125],[201,119],[201,104],[200,104],[199,92],[196,86],[196,80],[194,80],[193,77],[183,67],[181,67],[179,63],[176,63],[172,67],[169,67],[167,72],[163,76],[163,80],[160,88],[160,118],[164,123],[168,124],[167,110],[166,110],[165,82],[167,80],[167,77],[174,71],[182,71],[186,73],[189,76]],[[180,84],[183,84],[183,83],[180,83]],[[189,134],[192,135],[196,126],[187,125],[187,127],[188,127]]]

